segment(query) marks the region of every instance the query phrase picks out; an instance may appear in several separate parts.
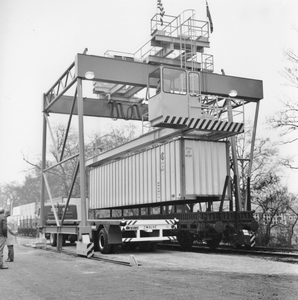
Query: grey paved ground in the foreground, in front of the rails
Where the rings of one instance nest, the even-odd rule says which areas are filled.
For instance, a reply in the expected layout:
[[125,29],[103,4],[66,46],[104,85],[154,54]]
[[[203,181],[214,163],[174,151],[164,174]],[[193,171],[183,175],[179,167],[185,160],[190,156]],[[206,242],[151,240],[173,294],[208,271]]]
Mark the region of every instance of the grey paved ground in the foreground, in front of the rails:
[[[139,267],[17,245],[0,299],[297,299],[298,265],[231,255],[135,253]],[[6,254],[6,253],[5,253]],[[129,255],[113,255],[129,261]],[[111,256],[112,257],[112,256]]]

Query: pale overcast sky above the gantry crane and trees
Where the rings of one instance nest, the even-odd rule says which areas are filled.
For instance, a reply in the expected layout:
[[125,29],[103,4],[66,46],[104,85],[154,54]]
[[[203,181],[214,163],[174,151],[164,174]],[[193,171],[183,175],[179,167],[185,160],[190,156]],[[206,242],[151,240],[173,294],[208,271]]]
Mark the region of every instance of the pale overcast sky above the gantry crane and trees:
[[[195,9],[206,20],[205,0],[163,0],[166,14]],[[280,71],[284,49],[298,50],[297,0],[209,0],[215,72],[261,79],[259,137],[266,116],[293,90]],[[23,155],[36,161],[42,145],[42,96],[77,53],[134,52],[149,40],[156,0],[0,0],[0,183],[22,182]],[[105,131],[105,121],[100,130]],[[295,149],[292,149],[293,151]],[[284,152],[285,150],[282,149]],[[292,152],[294,153],[294,152]],[[284,174],[298,192],[297,173]]]

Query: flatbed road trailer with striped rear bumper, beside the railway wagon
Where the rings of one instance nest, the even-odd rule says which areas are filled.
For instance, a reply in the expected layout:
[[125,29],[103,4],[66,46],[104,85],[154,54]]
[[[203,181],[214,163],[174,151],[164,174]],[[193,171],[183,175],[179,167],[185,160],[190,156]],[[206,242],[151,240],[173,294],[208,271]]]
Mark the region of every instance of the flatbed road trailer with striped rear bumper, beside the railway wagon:
[[[113,252],[114,246],[139,247],[142,251],[155,251],[157,243],[176,240],[177,219],[90,219],[91,241],[94,250],[103,254]],[[59,235],[62,245],[67,237],[79,236],[80,227],[71,223],[65,226],[48,225],[45,234],[52,236],[52,246],[57,246]],[[74,239],[73,241],[76,241]],[[132,245],[133,244],[133,245]]]

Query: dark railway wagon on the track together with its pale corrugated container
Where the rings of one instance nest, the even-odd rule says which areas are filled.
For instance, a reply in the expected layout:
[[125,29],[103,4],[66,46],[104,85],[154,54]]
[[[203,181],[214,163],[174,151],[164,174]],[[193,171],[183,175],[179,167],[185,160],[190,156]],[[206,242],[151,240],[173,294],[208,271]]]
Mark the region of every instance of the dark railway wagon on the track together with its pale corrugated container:
[[252,211],[231,209],[228,149],[189,134],[91,167],[89,208],[98,218],[178,219],[173,234],[183,248],[194,240],[250,245],[258,226]]

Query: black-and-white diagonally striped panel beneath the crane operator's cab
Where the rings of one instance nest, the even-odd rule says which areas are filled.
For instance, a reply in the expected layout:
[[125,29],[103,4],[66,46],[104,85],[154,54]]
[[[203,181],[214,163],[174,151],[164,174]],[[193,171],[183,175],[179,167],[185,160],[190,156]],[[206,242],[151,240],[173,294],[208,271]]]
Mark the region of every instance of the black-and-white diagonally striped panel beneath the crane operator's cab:
[[163,120],[163,123],[170,125],[185,125],[188,128],[202,131],[244,132],[243,123],[219,121],[210,118],[196,119],[188,117],[166,116]]

